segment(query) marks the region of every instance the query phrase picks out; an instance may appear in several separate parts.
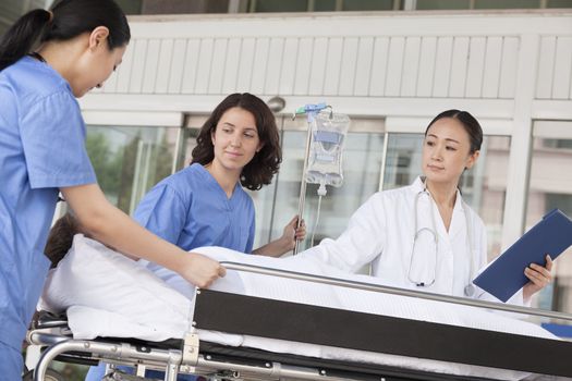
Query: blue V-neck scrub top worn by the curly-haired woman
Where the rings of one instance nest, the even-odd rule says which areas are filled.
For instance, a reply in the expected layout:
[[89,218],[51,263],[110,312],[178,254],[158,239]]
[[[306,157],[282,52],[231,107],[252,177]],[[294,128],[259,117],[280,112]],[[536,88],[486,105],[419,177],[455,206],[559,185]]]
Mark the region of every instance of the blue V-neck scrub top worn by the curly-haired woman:
[[[200,164],[158,183],[135,210],[135,220],[184,250],[222,246],[251,253],[254,204],[240,184],[230,198]],[[151,266],[153,267],[153,266]]]

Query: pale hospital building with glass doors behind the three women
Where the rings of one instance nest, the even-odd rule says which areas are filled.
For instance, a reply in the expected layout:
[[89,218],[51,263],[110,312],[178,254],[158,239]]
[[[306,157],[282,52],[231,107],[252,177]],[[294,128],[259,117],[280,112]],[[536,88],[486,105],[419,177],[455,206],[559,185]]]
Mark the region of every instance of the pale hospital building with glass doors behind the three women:
[[[0,0],[0,33],[51,2]],[[80,103],[98,181],[126,212],[190,163],[216,105],[248,91],[276,112],[283,147],[272,184],[251,193],[255,247],[297,212],[307,121],[292,113],[307,103],[352,123],[343,184],[328,188],[316,229],[317,186],[307,186],[302,248],[337,237],[375,192],[412,183],[428,122],[453,108],[486,135],[462,193],[486,224],[489,259],[553,208],[572,216],[571,0],[118,2],[129,49]],[[534,306],[572,312],[572,253]]]

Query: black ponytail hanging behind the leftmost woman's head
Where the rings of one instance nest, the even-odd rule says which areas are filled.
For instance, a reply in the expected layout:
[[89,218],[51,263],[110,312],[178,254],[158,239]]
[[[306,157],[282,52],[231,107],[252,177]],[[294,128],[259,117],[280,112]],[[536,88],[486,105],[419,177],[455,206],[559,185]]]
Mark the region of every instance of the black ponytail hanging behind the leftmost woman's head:
[[29,53],[41,39],[50,21],[51,13],[41,9],[20,17],[0,38],[0,71]]

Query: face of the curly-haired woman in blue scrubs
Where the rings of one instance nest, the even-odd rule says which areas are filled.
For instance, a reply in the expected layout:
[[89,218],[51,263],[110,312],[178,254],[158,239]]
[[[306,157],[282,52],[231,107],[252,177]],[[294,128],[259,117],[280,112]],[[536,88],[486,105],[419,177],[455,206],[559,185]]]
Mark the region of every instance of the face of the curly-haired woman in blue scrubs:
[[239,173],[263,147],[254,115],[240,107],[228,109],[222,114],[211,139],[215,161]]

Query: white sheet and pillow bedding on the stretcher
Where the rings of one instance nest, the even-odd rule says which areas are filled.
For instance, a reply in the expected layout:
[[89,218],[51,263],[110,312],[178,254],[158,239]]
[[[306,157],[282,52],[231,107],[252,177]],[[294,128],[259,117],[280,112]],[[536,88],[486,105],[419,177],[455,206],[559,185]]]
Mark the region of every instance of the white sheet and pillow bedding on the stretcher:
[[[275,259],[247,256],[220,247],[205,247],[195,251],[221,261],[382,284],[375,278],[349,275],[321,262],[301,261],[296,257]],[[190,299],[194,297],[194,287],[169,270],[163,270],[157,275],[137,262],[92,239],[76,235],[72,250],[58,268],[50,272],[40,307],[52,311],[66,310],[70,328],[75,339],[96,336],[137,337],[151,341],[180,339],[188,328],[192,308]],[[317,283],[309,284],[276,276],[229,271],[226,278],[217,281],[210,288],[557,340],[538,325],[474,307]],[[500,380],[519,380],[528,374],[512,370],[203,330],[199,330],[199,337],[224,345],[243,345],[276,353],[388,365],[430,372]]]

